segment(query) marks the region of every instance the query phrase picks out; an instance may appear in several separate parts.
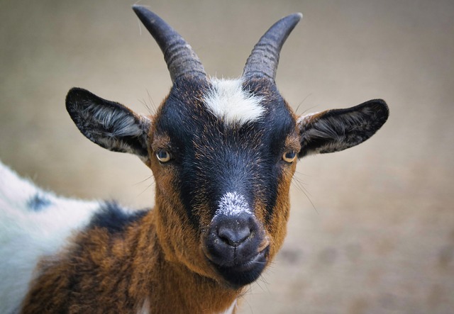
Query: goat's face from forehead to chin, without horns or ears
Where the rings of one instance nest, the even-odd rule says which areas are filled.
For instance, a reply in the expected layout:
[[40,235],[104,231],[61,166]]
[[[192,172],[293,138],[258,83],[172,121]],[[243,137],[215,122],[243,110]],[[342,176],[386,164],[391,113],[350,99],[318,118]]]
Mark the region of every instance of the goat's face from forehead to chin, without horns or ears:
[[[255,115],[216,112],[218,97]],[[150,139],[157,194],[170,206],[165,216],[178,208],[175,227],[189,225],[184,238],[199,241],[184,245],[199,252],[191,264],[208,264],[203,269],[233,286],[257,279],[282,243],[300,150],[296,120],[275,86],[267,79],[175,82]]]

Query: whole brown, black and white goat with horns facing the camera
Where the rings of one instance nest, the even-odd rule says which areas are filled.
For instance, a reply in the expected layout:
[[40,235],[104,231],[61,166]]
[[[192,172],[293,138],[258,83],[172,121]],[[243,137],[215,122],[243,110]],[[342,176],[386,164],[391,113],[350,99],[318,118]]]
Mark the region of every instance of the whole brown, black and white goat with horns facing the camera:
[[155,207],[60,198],[1,166],[1,313],[233,313],[282,246],[297,159],[358,145],[387,120],[380,99],[292,111],[275,74],[300,13],[267,30],[239,79],[216,79],[159,16],[133,10],[170,94],[153,116],[80,88],[66,108],[89,140],[151,169]]

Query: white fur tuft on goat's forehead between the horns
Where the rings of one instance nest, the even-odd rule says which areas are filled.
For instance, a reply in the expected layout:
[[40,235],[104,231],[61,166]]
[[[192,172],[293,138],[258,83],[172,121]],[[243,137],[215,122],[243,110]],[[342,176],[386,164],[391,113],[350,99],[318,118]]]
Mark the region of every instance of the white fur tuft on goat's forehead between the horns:
[[241,79],[212,79],[212,87],[204,96],[205,106],[227,125],[243,125],[260,120],[265,107],[263,97],[243,91]]

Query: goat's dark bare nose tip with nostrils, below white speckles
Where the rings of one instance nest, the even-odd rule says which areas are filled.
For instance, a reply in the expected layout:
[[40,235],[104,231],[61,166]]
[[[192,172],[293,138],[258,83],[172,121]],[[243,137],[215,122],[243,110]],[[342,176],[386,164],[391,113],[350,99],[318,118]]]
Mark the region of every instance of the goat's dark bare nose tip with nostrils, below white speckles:
[[250,215],[247,214],[221,219],[217,225],[218,238],[226,245],[238,247],[248,240],[253,228],[255,228],[254,223]]

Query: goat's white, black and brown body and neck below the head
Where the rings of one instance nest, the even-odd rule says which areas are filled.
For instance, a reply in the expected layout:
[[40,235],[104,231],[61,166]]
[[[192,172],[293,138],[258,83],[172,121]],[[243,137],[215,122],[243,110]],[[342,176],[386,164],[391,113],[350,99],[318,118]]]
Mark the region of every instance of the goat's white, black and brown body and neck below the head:
[[165,260],[155,211],[60,198],[3,164],[0,208],[0,313],[27,293],[23,313],[199,313],[236,298]]

